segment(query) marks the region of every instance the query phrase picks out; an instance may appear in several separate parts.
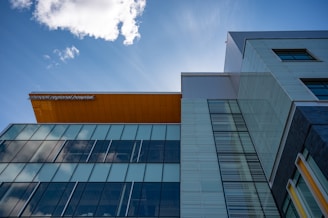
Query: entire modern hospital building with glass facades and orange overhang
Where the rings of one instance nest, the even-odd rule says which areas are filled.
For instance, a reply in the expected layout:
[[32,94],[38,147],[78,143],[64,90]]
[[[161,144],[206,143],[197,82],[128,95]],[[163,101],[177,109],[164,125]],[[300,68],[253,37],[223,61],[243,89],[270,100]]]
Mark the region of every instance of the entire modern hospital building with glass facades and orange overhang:
[[327,217],[328,31],[229,32],[181,93],[31,93],[1,217]]

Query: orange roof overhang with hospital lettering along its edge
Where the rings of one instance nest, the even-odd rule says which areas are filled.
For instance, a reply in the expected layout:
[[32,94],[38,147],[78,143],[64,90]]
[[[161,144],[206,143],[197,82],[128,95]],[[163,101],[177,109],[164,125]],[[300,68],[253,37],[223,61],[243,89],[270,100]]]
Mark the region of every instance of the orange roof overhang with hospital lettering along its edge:
[[38,123],[180,123],[180,93],[31,93]]

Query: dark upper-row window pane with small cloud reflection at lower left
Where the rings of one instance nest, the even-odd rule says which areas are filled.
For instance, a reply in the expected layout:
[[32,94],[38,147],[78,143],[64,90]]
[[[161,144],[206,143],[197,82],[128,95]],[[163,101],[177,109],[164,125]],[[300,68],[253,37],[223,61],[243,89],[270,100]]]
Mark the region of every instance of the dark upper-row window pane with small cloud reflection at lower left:
[[109,148],[106,162],[129,163],[135,141],[113,140]]

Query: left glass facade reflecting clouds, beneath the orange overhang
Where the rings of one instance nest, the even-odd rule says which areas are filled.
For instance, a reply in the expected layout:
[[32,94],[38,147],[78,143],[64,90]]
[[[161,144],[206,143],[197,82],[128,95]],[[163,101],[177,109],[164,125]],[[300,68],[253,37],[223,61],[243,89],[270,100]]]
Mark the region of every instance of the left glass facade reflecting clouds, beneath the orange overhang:
[[0,217],[180,217],[180,126],[14,124]]

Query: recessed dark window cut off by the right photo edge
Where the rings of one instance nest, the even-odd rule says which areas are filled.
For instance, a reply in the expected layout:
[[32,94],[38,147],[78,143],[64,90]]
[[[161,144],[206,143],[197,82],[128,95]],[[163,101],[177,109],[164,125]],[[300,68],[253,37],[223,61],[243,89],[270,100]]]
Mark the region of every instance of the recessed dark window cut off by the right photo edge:
[[302,79],[302,82],[319,100],[328,100],[328,78]]

